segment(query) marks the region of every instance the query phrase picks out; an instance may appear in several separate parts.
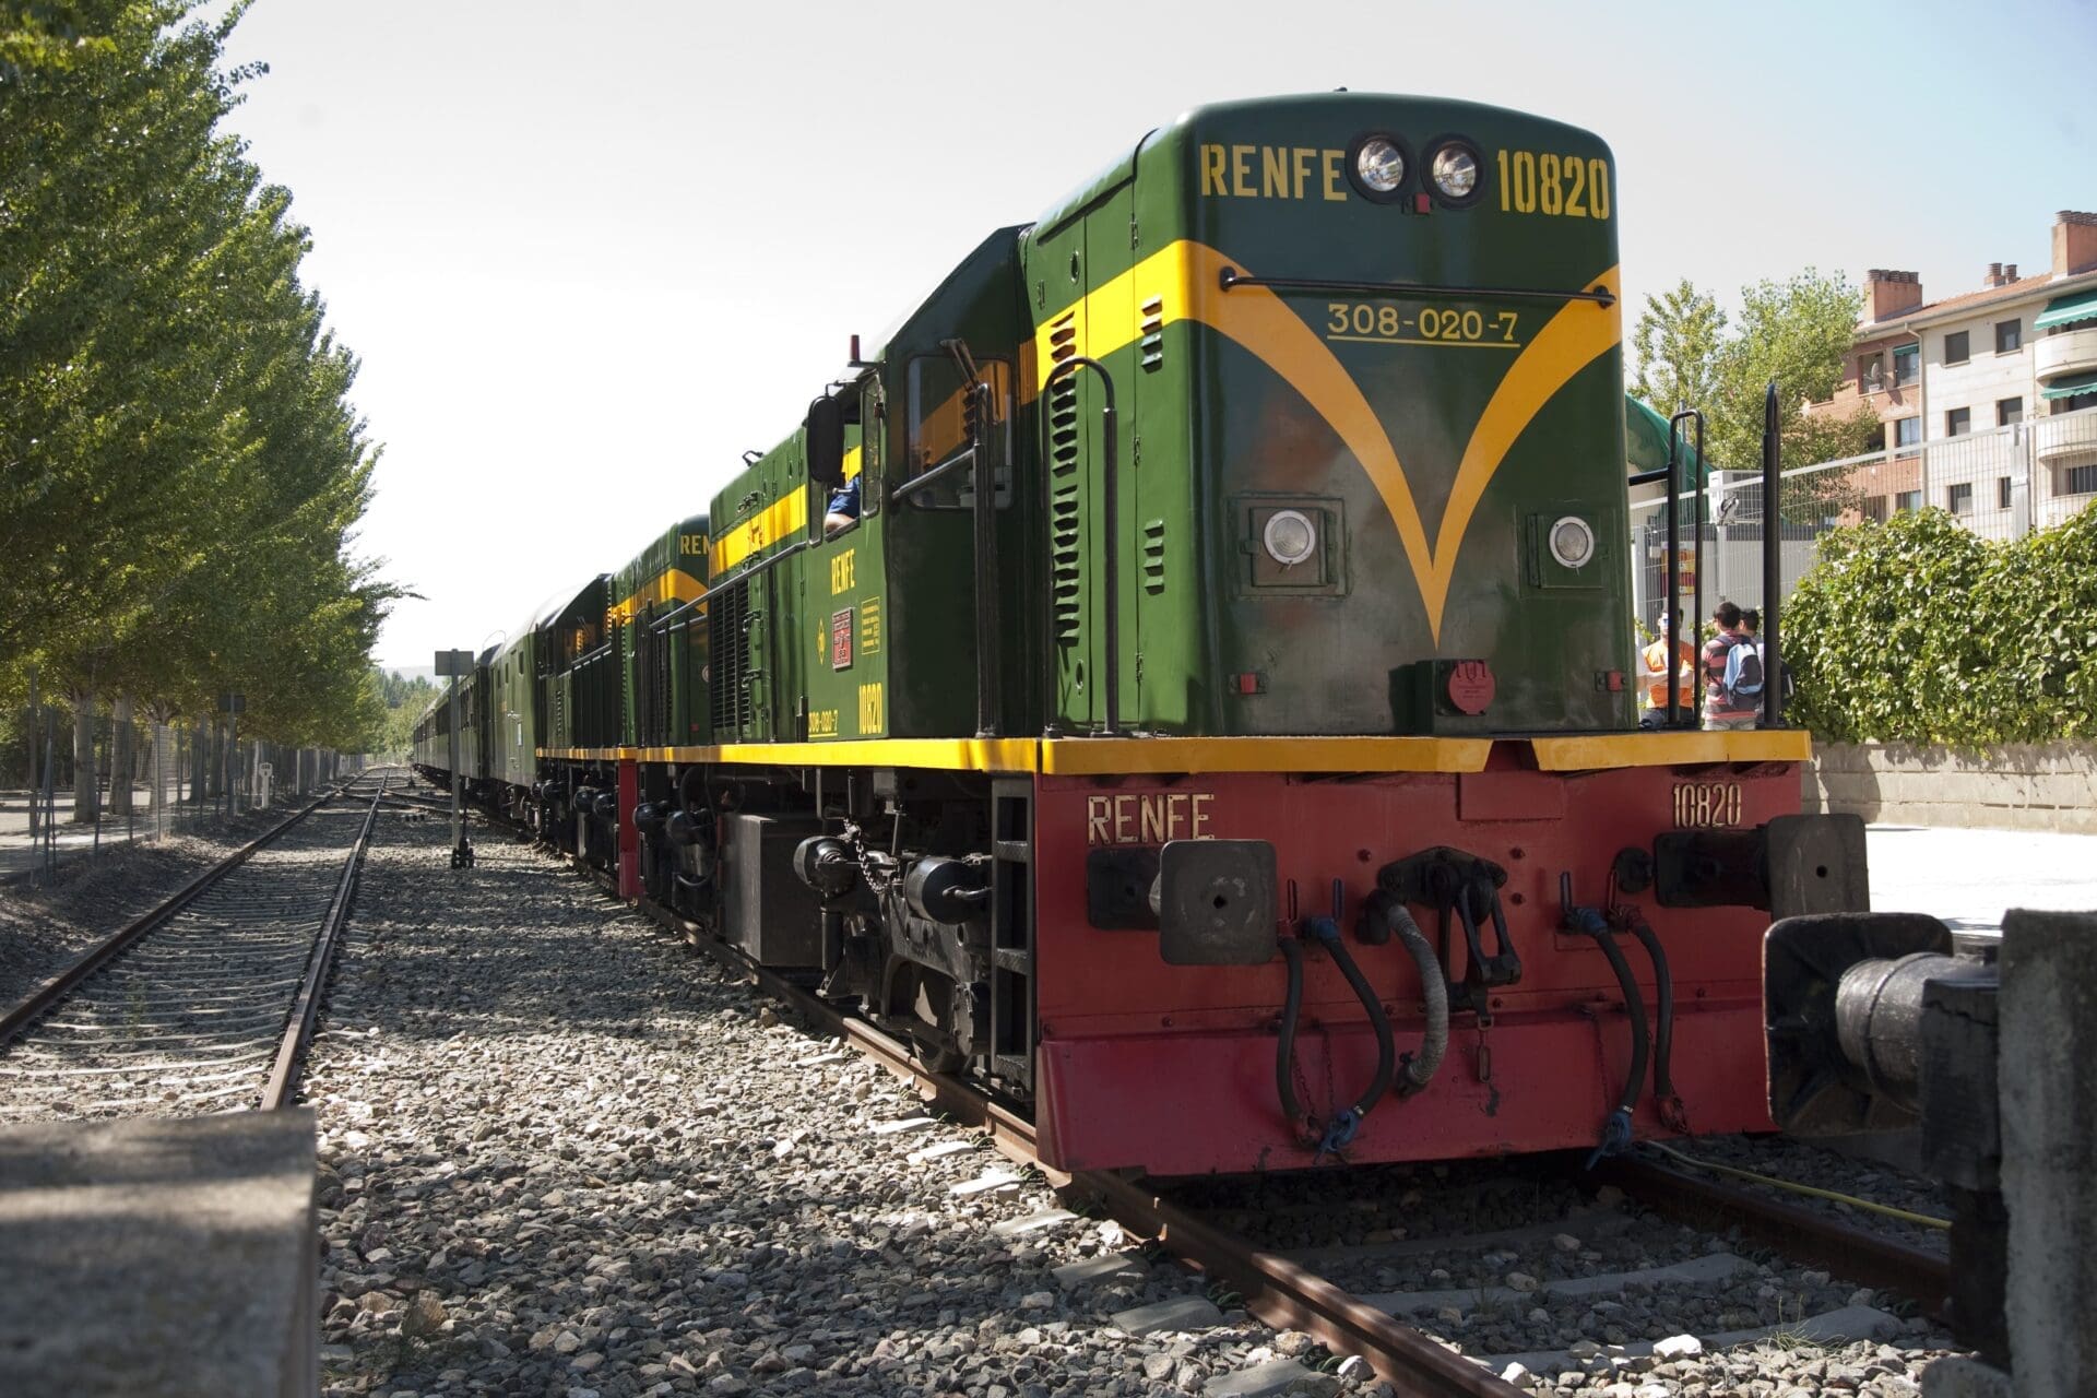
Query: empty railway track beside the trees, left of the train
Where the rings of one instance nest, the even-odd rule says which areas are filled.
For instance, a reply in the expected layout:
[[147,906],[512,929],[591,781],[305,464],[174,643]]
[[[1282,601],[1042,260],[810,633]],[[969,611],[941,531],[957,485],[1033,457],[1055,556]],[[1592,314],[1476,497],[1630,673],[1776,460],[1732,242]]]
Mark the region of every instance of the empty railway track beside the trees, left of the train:
[[287,1105],[392,780],[312,801],[0,1014],[0,1123]]

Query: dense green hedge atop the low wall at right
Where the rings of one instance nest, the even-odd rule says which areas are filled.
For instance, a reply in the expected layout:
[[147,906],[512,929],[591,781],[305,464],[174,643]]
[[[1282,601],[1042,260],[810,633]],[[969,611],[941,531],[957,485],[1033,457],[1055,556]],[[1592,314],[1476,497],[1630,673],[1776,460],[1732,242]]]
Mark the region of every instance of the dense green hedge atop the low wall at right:
[[2097,736],[2097,509],[2011,543],[1942,509],[1833,530],[1780,620],[1818,738]]

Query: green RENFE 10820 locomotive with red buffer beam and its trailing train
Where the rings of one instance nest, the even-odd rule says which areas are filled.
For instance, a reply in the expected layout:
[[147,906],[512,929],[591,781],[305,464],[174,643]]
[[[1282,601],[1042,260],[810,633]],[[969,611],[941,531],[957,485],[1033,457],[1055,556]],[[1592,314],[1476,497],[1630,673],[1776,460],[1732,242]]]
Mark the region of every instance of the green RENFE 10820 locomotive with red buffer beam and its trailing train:
[[1497,107],[1183,115],[489,652],[466,776],[1057,1165],[1766,1128],[1761,929],[1862,859],[1774,704],[1636,725],[1615,193]]

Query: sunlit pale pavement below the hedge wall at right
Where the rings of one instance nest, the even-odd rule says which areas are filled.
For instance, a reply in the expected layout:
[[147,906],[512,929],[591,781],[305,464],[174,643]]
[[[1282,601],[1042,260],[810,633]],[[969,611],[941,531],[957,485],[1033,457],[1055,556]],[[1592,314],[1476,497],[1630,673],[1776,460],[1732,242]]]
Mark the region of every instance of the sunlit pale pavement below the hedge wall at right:
[[1871,905],[2003,933],[2011,908],[2097,910],[2097,834],[1871,826]]

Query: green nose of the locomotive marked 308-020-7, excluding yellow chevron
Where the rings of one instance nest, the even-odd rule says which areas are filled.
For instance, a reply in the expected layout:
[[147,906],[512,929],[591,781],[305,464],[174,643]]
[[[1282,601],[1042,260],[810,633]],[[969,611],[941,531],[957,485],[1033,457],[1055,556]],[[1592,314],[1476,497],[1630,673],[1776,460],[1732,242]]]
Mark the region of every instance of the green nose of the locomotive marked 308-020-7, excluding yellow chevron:
[[[1413,212],[1353,187],[1325,197],[1323,157],[1292,197],[1204,193],[1202,147],[1229,155],[1227,189],[1264,184],[1273,149],[1346,151],[1363,132],[1395,132],[1418,161],[1460,134],[1483,155],[1472,207]],[[1239,151],[1250,159],[1239,163]],[[1594,136],[1466,103],[1325,94],[1208,107],[1153,132],[1057,222],[1025,239],[1025,279],[1042,289],[1038,323],[1176,239],[1214,247],[1260,277],[1447,287],[1583,289],[1617,264],[1613,220],[1499,210],[1495,153],[1608,161]],[[1342,161],[1344,163],[1344,161]],[[1294,161],[1292,161],[1294,166]],[[1615,193],[1610,180],[1610,193]],[[1610,201],[1613,205],[1613,201]],[[1615,212],[1615,207],[1610,207]],[[1076,275],[1074,275],[1076,272]],[[1397,304],[1512,310],[1527,342],[1560,302],[1451,289],[1428,298],[1285,291],[1323,331],[1332,306]],[[1426,537],[1472,428],[1512,352],[1441,344],[1327,342],[1403,461]],[[1147,363],[1145,363],[1147,361]],[[1105,358],[1122,417],[1120,706],[1141,727],[1185,734],[1424,734],[1613,729],[1631,723],[1627,692],[1606,673],[1629,654],[1623,564],[1623,367],[1613,348],[1581,369],[1527,425],[1491,476],[1462,537],[1443,631],[1430,635],[1413,568],[1390,509],[1363,465],[1298,390],[1252,352],[1183,319],[1160,344]],[[1078,478],[1082,576],[1076,637],[1057,648],[1059,715],[1101,717],[1103,597],[1097,581],[1101,459],[1097,386],[1082,388],[1086,440]],[[1134,463],[1134,469],[1128,469]],[[1294,507],[1321,522],[1321,574],[1262,583],[1258,511]],[[1581,514],[1600,555],[1579,574],[1535,566],[1539,516]],[[1139,562],[1158,564],[1147,572]],[[1141,581],[1139,581],[1141,576]],[[1478,717],[1434,702],[1434,658],[1483,658],[1497,696]],[[1250,677],[1250,679],[1239,679]],[[1254,694],[1241,694],[1256,687]]]

